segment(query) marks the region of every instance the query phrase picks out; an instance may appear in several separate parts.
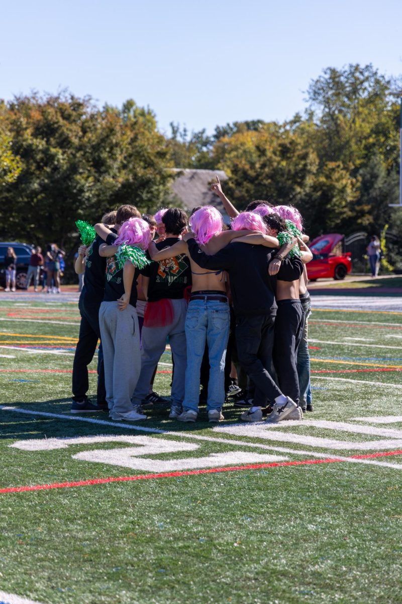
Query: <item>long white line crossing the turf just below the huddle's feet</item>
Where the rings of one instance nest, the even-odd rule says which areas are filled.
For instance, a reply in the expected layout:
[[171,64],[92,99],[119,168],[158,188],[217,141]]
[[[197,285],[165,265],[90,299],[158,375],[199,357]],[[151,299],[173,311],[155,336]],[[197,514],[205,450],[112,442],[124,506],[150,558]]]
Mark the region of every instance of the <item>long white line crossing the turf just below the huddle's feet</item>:
[[[277,447],[273,445],[264,445],[261,443],[248,443],[243,440],[234,440],[230,438],[216,438],[211,436],[201,436],[199,434],[192,434],[191,432],[171,432],[168,430],[161,430],[158,428],[146,428],[145,426],[136,426],[130,423],[123,422],[105,422],[104,420],[96,420],[90,417],[77,417],[77,416],[64,416],[58,413],[48,413],[46,411],[31,411],[28,409],[20,409],[18,407],[10,407],[6,405],[0,405],[1,411],[16,411],[16,413],[24,413],[27,415],[38,415],[44,417],[57,417],[58,419],[66,419],[66,420],[76,420],[87,423],[95,423],[106,426],[113,426],[113,428],[128,428],[131,430],[139,430],[144,432],[153,432],[154,434],[165,434],[168,436],[174,437],[182,437],[186,439],[194,439],[194,440],[205,440],[206,442],[212,443],[223,443],[224,445],[236,445],[242,447],[251,447],[253,449],[268,449],[268,451],[278,451],[280,453],[290,453],[292,455],[307,455],[309,457],[317,457],[320,459],[328,459],[328,458],[336,458],[342,461],[349,461],[350,463],[361,463],[372,466],[389,466],[394,467],[392,463],[383,463],[382,461],[370,460],[370,459],[352,459],[350,457],[344,457],[342,455],[330,455],[327,452],[318,453],[316,451],[304,451],[303,449],[289,449],[287,447]],[[213,428],[215,431],[215,428]]]

